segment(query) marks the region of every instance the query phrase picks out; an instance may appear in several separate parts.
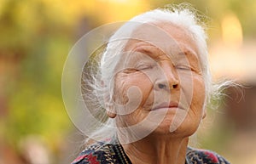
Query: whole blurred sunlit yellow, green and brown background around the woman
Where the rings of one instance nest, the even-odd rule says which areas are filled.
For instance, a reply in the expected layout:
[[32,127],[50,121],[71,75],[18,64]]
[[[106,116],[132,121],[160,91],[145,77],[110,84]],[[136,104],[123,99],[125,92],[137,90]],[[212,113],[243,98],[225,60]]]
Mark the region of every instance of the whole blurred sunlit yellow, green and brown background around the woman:
[[[61,99],[69,50],[87,31],[166,3],[164,0],[0,0],[0,164],[70,163],[83,136]],[[214,81],[236,79],[207,111],[196,146],[234,164],[256,163],[256,1],[187,1],[206,15]],[[214,105],[214,104],[213,104]]]

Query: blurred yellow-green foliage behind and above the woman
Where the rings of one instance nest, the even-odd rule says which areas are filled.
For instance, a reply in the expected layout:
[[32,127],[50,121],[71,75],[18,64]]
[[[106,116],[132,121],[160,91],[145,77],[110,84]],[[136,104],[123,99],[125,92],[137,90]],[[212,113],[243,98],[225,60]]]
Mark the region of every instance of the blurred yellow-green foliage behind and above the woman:
[[[75,39],[96,25],[129,20],[149,8],[180,2],[0,0],[0,60],[13,67],[0,76],[0,100],[7,99],[8,110],[0,118],[0,143],[2,135],[17,147],[20,139],[34,133],[44,136],[50,145],[61,143],[72,128],[61,99],[61,71]],[[241,20],[244,34],[255,37],[256,24],[251,19],[256,17],[256,1],[187,2],[214,19],[210,26],[217,30],[212,36],[218,35],[224,14],[232,11]]]

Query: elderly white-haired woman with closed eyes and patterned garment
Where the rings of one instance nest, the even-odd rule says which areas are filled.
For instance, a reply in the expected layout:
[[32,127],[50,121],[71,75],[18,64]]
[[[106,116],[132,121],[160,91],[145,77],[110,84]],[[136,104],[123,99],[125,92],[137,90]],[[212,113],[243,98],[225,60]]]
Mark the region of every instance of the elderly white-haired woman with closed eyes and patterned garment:
[[212,94],[199,21],[188,8],[154,9],[113,34],[89,87],[102,99],[103,110],[90,109],[101,126],[73,164],[229,163],[188,146]]

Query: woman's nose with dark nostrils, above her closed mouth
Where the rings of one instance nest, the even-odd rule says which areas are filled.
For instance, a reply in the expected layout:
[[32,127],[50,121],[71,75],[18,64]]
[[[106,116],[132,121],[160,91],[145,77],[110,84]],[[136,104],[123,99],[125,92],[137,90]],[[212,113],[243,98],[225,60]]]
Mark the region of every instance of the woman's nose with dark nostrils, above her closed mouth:
[[154,83],[154,88],[156,90],[171,91],[179,88],[176,71],[167,69],[167,71],[162,71],[160,74],[161,75],[159,75]]

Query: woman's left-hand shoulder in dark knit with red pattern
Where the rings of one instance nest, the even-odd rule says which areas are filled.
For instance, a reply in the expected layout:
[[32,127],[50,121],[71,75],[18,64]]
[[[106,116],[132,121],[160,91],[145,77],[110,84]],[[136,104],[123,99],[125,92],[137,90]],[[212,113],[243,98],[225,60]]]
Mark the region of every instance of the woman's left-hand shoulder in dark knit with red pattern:
[[91,144],[83,150],[79,156],[72,162],[72,164],[101,164],[101,163],[114,163],[115,157],[112,144],[104,144],[98,142]]

